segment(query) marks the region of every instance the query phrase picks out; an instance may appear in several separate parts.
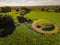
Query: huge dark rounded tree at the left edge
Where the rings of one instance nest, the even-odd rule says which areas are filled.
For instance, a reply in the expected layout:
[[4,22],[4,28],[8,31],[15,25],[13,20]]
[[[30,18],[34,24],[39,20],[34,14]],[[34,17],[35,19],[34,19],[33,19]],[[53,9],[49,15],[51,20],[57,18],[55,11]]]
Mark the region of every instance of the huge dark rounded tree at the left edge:
[[15,23],[11,16],[0,16],[0,36],[11,34],[15,28]]

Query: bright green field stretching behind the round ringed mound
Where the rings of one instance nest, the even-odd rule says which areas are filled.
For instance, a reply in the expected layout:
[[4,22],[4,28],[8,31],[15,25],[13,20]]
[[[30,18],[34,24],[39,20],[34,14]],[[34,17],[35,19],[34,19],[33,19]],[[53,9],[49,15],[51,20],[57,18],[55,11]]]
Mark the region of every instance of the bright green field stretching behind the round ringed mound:
[[56,24],[60,25],[60,13],[56,12],[40,12],[40,11],[31,11],[31,13],[25,15],[25,17],[30,19],[49,19]]

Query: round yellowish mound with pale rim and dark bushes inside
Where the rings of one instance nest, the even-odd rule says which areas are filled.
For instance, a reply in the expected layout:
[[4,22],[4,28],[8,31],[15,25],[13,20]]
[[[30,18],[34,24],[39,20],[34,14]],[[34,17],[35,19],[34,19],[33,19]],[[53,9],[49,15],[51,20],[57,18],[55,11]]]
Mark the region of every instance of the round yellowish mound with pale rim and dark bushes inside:
[[58,26],[50,20],[39,19],[32,23],[32,28],[36,32],[42,34],[54,34],[57,33],[59,28]]

